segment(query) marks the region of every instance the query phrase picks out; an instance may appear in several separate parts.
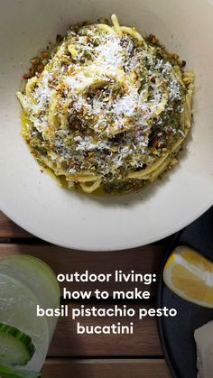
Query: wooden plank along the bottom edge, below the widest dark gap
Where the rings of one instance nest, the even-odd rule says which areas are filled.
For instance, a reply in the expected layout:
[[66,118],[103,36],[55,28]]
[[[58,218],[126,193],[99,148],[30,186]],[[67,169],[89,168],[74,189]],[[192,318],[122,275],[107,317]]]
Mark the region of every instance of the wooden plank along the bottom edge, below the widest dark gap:
[[47,359],[42,378],[171,378],[164,360]]

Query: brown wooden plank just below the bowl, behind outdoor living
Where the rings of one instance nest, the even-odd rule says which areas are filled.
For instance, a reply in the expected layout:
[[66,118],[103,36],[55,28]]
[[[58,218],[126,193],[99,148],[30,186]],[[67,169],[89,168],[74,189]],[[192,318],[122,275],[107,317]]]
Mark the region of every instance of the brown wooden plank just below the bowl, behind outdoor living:
[[[22,244],[0,244],[0,257],[10,254],[32,254],[51,266],[56,275],[70,274],[74,272],[83,273],[86,270],[90,273],[113,273],[121,270],[125,274],[134,271],[135,273],[154,273],[158,275],[164,251],[166,247],[157,244],[146,245],[132,250],[115,252],[85,252],[60,248],[55,245],[22,245]],[[150,290],[153,296],[156,293],[157,282],[147,286],[144,282],[122,281],[115,282],[61,282],[61,288],[66,286],[68,290],[133,290],[138,286],[140,290]]]

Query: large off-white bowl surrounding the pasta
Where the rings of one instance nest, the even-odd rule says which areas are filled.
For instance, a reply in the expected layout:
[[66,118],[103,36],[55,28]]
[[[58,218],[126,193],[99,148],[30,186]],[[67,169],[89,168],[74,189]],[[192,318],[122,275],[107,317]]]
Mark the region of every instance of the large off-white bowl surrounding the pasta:
[[[194,124],[181,161],[144,193],[96,197],[61,189],[33,160],[19,134],[15,92],[37,51],[69,24],[116,13],[156,34],[196,73]],[[213,204],[213,2],[208,0],[10,0],[0,15],[0,207],[54,244],[116,250],[171,235]]]

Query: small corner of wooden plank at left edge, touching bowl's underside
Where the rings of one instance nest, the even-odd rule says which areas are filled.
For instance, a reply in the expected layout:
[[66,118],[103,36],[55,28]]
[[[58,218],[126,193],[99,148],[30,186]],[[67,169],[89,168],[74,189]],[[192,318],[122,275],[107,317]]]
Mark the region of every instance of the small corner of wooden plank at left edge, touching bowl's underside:
[[5,214],[0,211],[0,237],[32,237],[27,231],[24,231],[23,228],[17,226],[11,219],[5,216]]

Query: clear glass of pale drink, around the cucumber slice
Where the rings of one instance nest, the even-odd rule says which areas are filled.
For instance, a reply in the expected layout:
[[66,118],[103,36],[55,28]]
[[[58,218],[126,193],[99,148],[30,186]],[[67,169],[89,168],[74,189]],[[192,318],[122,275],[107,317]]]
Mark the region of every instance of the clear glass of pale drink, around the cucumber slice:
[[0,322],[32,337],[36,351],[22,369],[39,372],[45,361],[58,317],[37,317],[37,307],[60,307],[60,286],[51,268],[25,254],[0,259]]

